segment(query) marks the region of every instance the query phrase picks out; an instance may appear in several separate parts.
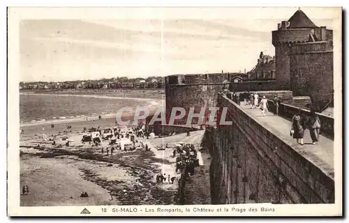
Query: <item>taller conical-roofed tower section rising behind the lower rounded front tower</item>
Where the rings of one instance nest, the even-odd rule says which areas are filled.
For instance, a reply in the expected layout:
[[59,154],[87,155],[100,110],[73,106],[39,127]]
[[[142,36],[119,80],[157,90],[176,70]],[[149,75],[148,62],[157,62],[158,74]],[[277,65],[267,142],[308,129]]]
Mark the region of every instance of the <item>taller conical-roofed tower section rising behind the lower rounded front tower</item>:
[[297,10],[288,21],[278,24],[272,31],[272,44],[275,47],[276,84],[279,90],[290,90],[290,47],[309,40],[309,35],[320,36],[320,29],[302,10]]

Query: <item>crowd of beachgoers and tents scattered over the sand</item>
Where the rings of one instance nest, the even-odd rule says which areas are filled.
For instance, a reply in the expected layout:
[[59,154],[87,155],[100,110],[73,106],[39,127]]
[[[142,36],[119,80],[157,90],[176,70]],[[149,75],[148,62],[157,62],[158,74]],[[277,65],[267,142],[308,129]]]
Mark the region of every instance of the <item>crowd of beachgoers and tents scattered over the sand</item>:
[[[51,128],[54,128],[54,125],[51,125]],[[66,129],[72,128],[71,125],[67,125]],[[22,129],[21,129],[22,131]],[[91,128],[84,127],[82,130],[82,144],[89,144],[97,148],[98,153],[101,153],[103,156],[112,156],[116,153],[116,151],[133,151],[136,148],[142,148],[144,151],[151,151],[151,145],[148,141],[143,141],[142,139],[152,139],[151,134],[148,133],[144,128],[142,128],[142,124],[136,127],[126,127],[126,126],[115,126],[110,128],[101,128],[101,126],[95,126]],[[171,134],[174,135],[175,133]],[[186,132],[187,136],[190,136],[191,131],[188,130]],[[53,136],[53,135],[52,135]],[[70,136],[66,135],[64,137],[60,137],[64,144],[67,147],[72,145],[80,146],[76,143],[73,144],[73,139],[70,139]],[[153,137],[154,138],[154,137]],[[53,137],[52,145],[62,147],[64,144],[56,144],[56,137]],[[107,141],[107,144],[105,143]],[[123,145],[123,146],[121,146]],[[37,146],[40,148],[40,144]],[[154,147],[157,148],[157,147]],[[163,149],[170,148],[168,144],[163,145]],[[158,150],[161,150],[158,148]],[[186,172],[186,176],[192,176],[194,174],[194,168],[198,165],[197,159],[198,152],[195,150],[195,146],[193,144],[177,144],[173,151],[173,157],[176,157],[176,170],[173,174],[162,173],[156,175],[156,183],[163,184],[174,184],[177,180],[177,174],[181,174],[182,171]],[[172,176],[171,176],[172,175]],[[23,186],[22,190],[23,194],[29,193],[29,187]],[[79,195],[78,195],[79,196]],[[89,197],[87,192],[82,192],[80,197]]]

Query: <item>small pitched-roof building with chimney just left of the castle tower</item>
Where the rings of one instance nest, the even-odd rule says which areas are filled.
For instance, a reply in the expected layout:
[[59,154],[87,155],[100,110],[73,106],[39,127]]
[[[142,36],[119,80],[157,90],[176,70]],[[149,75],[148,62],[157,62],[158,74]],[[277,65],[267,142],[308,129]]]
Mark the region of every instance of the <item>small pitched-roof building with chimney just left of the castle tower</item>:
[[257,64],[247,73],[248,80],[275,79],[274,60],[274,56],[263,55],[263,52],[260,52]]

